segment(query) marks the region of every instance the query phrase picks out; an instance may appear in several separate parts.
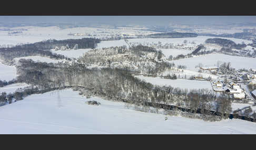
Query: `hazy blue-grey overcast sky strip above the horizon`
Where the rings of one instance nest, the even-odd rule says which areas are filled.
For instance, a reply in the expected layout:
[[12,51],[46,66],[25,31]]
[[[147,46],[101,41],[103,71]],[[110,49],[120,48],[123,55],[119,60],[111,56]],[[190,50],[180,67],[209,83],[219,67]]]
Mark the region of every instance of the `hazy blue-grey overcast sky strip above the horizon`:
[[105,23],[119,25],[256,23],[256,16],[0,16],[2,23]]

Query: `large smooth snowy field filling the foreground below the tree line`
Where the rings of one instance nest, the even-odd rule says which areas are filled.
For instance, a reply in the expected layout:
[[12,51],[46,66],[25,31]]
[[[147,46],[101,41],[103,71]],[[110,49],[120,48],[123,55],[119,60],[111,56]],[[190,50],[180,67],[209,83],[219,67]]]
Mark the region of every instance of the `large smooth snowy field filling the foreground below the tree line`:
[[[96,100],[99,106],[87,105]],[[205,122],[144,113],[121,102],[90,98],[71,89],[35,94],[0,107],[0,134],[255,134],[256,124],[243,120]]]

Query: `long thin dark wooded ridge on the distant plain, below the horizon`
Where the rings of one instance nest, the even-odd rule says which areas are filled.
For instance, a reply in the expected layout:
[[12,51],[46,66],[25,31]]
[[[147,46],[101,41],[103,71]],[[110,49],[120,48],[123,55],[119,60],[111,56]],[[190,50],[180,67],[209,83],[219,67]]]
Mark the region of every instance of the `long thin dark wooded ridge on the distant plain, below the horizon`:
[[163,33],[147,35],[148,38],[185,38],[185,37],[198,37],[195,33]]

